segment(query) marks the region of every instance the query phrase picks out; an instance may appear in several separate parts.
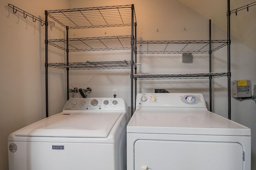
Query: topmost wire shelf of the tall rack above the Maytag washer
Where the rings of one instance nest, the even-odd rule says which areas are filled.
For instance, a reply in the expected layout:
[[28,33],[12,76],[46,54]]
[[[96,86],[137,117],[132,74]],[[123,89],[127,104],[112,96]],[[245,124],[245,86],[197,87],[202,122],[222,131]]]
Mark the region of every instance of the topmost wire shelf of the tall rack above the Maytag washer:
[[47,11],[48,16],[70,29],[129,26],[136,22],[134,5],[104,6]]

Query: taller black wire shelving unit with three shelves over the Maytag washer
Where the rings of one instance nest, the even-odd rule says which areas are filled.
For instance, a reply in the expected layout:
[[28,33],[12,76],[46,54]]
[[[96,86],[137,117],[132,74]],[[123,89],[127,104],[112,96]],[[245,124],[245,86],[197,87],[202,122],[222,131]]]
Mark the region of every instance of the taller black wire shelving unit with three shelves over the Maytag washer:
[[[51,18],[66,29],[66,39],[48,40],[48,18]],[[69,39],[68,34],[69,29],[124,26],[131,27],[130,35]],[[133,61],[134,42],[136,41],[134,32],[136,33],[136,15],[133,4],[45,11],[46,117],[48,117],[48,67],[66,69],[67,99],[69,98],[69,70],[130,68],[131,74],[133,74],[133,69],[135,67],[132,67],[131,61]],[[48,45],[52,45],[66,51],[66,63],[48,63]],[[86,61],[85,63],[69,63],[69,53],[74,51],[127,49],[131,50],[131,61]],[[132,76],[131,84],[133,84]],[[133,86],[131,87],[131,91],[131,100],[133,101]],[[131,108],[133,108],[133,102],[131,103]]]

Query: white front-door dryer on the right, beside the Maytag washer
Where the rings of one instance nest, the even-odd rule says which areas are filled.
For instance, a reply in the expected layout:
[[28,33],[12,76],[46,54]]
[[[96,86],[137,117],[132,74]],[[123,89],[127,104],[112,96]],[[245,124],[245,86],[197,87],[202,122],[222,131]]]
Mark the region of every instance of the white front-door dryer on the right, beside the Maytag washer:
[[250,129],[208,111],[202,94],[137,94],[127,170],[250,169]]

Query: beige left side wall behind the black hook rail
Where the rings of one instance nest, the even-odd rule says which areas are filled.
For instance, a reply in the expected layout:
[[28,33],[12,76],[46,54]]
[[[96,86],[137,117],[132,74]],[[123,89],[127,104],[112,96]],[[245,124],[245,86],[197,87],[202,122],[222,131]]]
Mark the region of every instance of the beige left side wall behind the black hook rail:
[[[68,0],[0,1],[0,170],[8,170],[8,135],[45,117],[45,28],[22,13],[14,14],[8,4],[44,20],[44,10],[68,8]],[[63,31],[50,32],[63,37]],[[66,101],[62,74],[49,75],[55,84],[49,89],[50,114],[61,111]]]

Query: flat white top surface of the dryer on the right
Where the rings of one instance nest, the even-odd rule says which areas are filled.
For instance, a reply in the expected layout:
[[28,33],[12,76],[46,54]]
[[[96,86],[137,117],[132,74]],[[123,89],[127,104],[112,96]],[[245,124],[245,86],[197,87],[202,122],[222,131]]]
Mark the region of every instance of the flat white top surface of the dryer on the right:
[[[159,111],[159,110],[158,110]],[[248,127],[210,111],[134,113],[127,133],[251,136]]]

